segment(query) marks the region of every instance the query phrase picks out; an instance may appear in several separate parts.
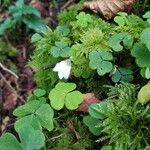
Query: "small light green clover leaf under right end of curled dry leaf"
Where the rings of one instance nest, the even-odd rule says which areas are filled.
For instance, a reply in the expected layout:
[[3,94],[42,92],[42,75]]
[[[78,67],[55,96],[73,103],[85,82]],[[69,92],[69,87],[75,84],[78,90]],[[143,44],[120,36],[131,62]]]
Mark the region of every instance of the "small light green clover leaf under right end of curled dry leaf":
[[119,25],[119,26],[124,26],[127,23],[127,13],[125,12],[120,12],[118,13],[118,16],[114,18],[114,21]]

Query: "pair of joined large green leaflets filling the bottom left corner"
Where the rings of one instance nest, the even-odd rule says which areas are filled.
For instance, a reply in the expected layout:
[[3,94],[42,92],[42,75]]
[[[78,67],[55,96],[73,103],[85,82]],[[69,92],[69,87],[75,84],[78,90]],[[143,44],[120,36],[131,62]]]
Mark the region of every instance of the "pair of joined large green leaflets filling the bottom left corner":
[[3,134],[0,137],[0,150],[35,150],[44,146],[44,134],[32,126],[21,128],[19,138],[21,143],[10,133]]

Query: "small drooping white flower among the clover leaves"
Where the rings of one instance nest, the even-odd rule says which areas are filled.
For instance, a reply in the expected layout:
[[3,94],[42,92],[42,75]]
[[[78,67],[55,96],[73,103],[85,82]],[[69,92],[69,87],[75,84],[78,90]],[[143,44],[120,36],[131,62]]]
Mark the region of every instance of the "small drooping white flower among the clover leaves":
[[53,71],[58,72],[59,79],[68,79],[71,72],[71,60],[66,59],[57,63]]

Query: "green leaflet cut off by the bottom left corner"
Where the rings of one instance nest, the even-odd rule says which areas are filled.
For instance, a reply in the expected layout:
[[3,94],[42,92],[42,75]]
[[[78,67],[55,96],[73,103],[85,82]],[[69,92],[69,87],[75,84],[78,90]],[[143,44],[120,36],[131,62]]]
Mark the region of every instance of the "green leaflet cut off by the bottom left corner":
[[5,133],[0,137],[0,150],[23,150],[23,148],[14,135]]

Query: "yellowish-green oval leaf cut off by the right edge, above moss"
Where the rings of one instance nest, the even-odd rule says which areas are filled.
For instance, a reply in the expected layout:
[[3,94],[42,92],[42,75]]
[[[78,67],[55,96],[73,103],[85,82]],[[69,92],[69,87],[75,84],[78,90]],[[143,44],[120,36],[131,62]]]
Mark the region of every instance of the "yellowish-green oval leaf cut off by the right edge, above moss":
[[142,105],[150,101],[150,83],[143,86],[138,93],[138,102]]

